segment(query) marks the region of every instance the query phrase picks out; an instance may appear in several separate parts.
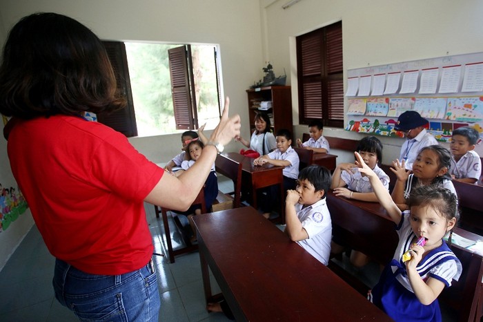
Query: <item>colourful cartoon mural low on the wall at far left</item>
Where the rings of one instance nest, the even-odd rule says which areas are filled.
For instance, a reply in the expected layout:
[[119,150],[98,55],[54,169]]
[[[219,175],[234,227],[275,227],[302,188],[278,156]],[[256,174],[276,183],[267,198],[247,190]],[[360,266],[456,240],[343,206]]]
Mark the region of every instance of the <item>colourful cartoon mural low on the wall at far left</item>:
[[3,188],[0,184],[0,232],[7,230],[27,207],[27,202],[19,189]]

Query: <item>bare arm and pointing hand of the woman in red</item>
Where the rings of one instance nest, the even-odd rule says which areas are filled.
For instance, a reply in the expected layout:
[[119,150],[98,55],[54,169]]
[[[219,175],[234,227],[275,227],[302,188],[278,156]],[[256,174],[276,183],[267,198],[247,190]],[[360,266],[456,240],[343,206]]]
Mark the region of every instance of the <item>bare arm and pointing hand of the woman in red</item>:
[[[225,145],[240,133],[239,115],[228,118],[229,103],[230,101],[226,97],[225,108],[219,124],[210,136],[211,142],[219,142]],[[215,146],[205,146],[197,162],[185,171],[183,176],[176,178],[175,176],[163,175],[144,200],[161,207],[181,211],[187,210],[203,187],[206,178],[208,178],[216,156],[217,149]]]

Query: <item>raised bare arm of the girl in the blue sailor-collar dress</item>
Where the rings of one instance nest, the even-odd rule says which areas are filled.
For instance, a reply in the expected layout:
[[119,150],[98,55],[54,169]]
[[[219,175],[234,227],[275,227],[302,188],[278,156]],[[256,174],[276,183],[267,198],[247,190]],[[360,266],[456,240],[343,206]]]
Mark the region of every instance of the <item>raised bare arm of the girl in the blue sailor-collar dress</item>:
[[382,184],[381,180],[377,177],[375,172],[370,167],[368,167],[364,160],[362,160],[362,157],[359,153],[355,152],[355,158],[355,163],[359,167],[359,172],[362,174],[362,176],[366,176],[369,178],[369,181],[371,182],[371,185],[373,187],[373,191],[377,196],[377,200],[379,200],[382,207],[386,209],[388,215],[391,217],[391,220],[393,220],[396,225],[399,224],[402,214],[400,209],[394,203],[393,198],[391,198],[389,191],[386,189],[386,187],[384,187],[384,184]]

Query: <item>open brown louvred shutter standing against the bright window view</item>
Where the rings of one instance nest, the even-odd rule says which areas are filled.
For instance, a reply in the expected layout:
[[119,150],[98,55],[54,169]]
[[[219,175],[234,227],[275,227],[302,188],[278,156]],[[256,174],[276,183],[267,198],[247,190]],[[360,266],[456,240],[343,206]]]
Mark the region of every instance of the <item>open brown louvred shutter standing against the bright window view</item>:
[[179,130],[193,130],[195,126],[198,127],[190,51],[189,45],[168,50],[172,107],[176,129]]

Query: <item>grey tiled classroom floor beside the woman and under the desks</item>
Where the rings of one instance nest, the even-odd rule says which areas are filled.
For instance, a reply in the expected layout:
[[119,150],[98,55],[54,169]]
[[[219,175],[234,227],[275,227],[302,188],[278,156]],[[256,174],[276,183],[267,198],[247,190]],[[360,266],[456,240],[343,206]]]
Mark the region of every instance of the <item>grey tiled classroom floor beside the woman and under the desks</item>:
[[[219,177],[219,189],[233,191],[233,183]],[[162,220],[155,217],[152,205],[146,204],[146,213],[155,252],[166,254]],[[172,220],[170,231],[173,247],[179,247],[182,243],[181,236]],[[155,263],[161,294],[159,321],[230,321],[222,313],[206,312],[198,252],[177,256],[173,264],[166,257],[155,256]],[[378,265],[370,264],[364,269],[355,270],[348,264],[346,256],[338,263],[366,285],[372,287],[377,283],[380,269]],[[0,272],[0,321],[78,321],[54,297],[54,264],[55,259],[47,251],[37,227],[32,227]],[[213,278],[211,283],[213,292],[219,292]],[[445,315],[443,321],[456,321]]]

